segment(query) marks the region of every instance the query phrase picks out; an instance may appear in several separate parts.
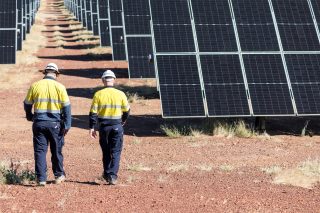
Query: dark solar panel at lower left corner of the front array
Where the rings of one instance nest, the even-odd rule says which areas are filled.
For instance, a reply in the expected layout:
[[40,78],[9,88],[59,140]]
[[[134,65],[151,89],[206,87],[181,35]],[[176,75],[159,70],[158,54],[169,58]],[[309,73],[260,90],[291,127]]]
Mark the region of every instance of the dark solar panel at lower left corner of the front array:
[[157,63],[163,116],[205,116],[196,56],[158,56]]

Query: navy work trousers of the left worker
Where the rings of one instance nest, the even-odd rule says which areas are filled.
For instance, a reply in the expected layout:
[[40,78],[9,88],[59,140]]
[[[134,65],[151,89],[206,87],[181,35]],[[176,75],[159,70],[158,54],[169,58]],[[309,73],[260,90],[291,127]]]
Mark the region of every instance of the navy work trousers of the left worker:
[[65,175],[62,147],[64,135],[60,122],[35,121],[32,126],[36,176],[39,182],[47,180],[46,155],[50,144],[52,171],[55,177]]

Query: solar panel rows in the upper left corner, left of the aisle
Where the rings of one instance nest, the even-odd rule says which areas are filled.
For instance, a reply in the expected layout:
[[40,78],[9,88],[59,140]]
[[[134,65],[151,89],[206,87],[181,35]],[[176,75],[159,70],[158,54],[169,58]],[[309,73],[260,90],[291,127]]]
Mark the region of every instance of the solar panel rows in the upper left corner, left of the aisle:
[[0,1],[0,64],[16,63],[16,51],[30,32],[40,0]]

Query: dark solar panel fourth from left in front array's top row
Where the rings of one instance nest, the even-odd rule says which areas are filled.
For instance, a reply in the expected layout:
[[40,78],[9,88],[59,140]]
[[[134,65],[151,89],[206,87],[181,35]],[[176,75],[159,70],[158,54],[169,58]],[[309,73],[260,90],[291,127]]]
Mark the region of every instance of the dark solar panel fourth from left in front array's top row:
[[273,0],[272,4],[285,51],[320,50],[307,0]]

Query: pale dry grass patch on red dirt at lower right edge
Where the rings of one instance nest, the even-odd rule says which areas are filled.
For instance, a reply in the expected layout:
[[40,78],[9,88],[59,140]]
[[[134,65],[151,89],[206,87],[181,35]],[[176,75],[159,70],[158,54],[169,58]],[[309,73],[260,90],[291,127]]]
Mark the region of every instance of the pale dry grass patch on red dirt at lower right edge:
[[320,160],[308,159],[296,168],[281,170],[275,174],[273,182],[311,189],[320,183]]

